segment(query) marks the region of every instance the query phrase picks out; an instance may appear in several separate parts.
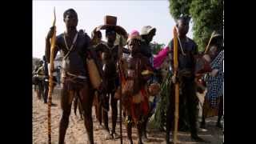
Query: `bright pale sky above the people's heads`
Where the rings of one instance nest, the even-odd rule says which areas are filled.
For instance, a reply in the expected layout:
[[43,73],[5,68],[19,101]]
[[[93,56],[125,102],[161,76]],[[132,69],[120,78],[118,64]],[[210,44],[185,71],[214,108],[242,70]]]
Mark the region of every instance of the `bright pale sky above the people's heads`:
[[[154,26],[157,29],[153,42],[168,44],[173,38],[174,19],[169,13],[169,2],[162,1],[33,1],[33,57],[42,58],[45,50],[45,38],[56,10],[57,34],[65,30],[63,12],[73,8],[78,13],[78,30],[91,34],[96,26],[103,24],[105,15],[118,17],[118,26],[128,33],[142,29],[142,26]],[[187,34],[192,38],[192,25]],[[103,40],[105,32],[102,33]]]

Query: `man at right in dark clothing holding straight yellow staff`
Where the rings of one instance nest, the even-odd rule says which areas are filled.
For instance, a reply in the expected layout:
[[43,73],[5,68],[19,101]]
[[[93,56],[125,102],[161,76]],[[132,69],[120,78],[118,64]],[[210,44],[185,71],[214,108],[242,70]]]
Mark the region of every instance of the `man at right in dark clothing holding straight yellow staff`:
[[[170,42],[170,55],[171,55],[171,68],[172,82],[179,83],[179,110],[183,113],[187,110],[190,122],[190,134],[191,138],[197,142],[203,142],[204,140],[198,137],[198,131],[196,126],[196,115],[198,98],[195,91],[194,83],[194,70],[195,70],[195,56],[198,54],[198,46],[196,43],[186,37],[189,30],[190,18],[180,17],[177,19],[177,30],[178,30],[178,73],[174,74],[174,39]],[[166,143],[170,143],[170,130],[174,130],[174,110],[175,110],[175,90],[174,85],[170,91],[170,102],[166,114]],[[186,103],[186,105],[181,105]],[[180,121],[181,119],[179,119]]]

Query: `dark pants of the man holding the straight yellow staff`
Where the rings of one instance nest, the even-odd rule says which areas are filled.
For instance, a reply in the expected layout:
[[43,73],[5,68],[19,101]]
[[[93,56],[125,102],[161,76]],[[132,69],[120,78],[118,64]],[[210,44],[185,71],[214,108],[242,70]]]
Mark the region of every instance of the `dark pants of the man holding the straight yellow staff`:
[[[184,111],[187,111],[189,117],[189,124],[190,124],[190,134],[195,135],[197,134],[197,127],[196,127],[196,120],[197,120],[197,105],[198,105],[198,98],[196,96],[195,91],[195,83],[193,80],[183,80],[182,86],[182,94],[179,96],[179,115],[181,118],[184,115]],[[166,134],[169,137],[170,130],[174,127],[174,110],[175,110],[175,91],[174,85],[172,85],[170,90],[170,105],[167,109],[166,114]],[[185,103],[185,105],[184,105]],[[181,120],[179,118],[179,122]]]

